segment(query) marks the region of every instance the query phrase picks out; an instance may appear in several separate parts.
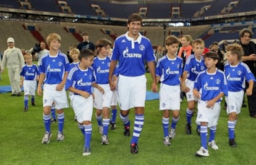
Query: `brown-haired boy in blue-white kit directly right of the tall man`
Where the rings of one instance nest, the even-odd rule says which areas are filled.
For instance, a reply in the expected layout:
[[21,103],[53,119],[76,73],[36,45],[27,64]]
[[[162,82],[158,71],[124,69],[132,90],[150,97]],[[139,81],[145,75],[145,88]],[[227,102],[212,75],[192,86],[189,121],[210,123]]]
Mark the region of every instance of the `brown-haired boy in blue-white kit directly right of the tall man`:
[[[176,36],[166,38],[167,54],[161,57],[156,64],[156,83],[161,81],[160,85],[160,110],[163,111],[163,144],[171,145],[169,139],[174,139],[176,135],[176,124],[179,121],[179,110],[181,107],[181,75],[183,60],[176,55],[179,49],[179,39]],[[169,129],[170,110],[173,112],[173,119]],[[169,131],[169,134],[168,134]]]

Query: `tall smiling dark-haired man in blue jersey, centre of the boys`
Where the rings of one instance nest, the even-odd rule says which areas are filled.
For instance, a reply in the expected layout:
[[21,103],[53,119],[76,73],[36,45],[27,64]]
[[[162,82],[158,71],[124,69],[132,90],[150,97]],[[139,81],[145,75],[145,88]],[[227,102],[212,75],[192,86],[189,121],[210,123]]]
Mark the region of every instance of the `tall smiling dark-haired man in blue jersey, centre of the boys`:
[[138,141],[144,124],[144,110],[147,92],[147,79],[145,76],[145,60],[153,79],[151,90],[158,91],[155,78],[155,55],[148,38],[140,34],[142,17],[131,14],[127,21],[128,31],[119,36],[114,42],[111,64],[109,66],[109,86],[116,88],[113,73],[119,62],[119,78],[117,82],[120,117],[124,123],[124,135],[130,135],[130,108],[135,110],[134,133],[130,141],[130,152],[138,153]]

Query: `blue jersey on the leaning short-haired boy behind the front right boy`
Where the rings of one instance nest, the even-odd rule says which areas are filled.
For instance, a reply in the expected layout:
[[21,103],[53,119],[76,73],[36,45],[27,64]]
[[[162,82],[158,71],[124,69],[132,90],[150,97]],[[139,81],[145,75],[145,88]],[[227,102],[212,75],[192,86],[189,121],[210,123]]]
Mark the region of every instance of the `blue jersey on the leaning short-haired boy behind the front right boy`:
[[205,66],[205,60],[203,60],[203,57],[201,57],[200,60],[197,60],[194,54],[189,55],[184,66],[184,71],[187,71],[187,79],[191,81],[195,81],[198,73],[200,73],[205,69],[206,69],[206,66]]

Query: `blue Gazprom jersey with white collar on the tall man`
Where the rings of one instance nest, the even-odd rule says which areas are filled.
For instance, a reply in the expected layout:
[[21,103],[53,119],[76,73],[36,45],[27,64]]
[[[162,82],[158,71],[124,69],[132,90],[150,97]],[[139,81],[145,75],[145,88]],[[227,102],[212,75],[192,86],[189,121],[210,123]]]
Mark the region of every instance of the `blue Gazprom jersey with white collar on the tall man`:
[[119,61],[119,74],[141,76],[145,74],[145,61],[154,62],[156,58],[148,38],[139,33],[139,38],[134,41],[127,32],[116,38],[111,60]]

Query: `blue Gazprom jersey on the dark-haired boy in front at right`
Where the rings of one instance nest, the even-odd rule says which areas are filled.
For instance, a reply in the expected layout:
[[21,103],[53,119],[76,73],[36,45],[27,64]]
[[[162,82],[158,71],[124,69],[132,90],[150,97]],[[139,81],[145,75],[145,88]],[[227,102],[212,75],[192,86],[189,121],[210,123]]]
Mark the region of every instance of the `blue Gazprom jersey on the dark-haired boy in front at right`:
[[[207,73],[207,70],[200,72],[195,79],[194,89],[201,92],[201,100],[214,99],[221,92],[228,95],[228,86],[224,72],[216,70],[215,73]],[[217,102],[220,102],[219,99]]]

